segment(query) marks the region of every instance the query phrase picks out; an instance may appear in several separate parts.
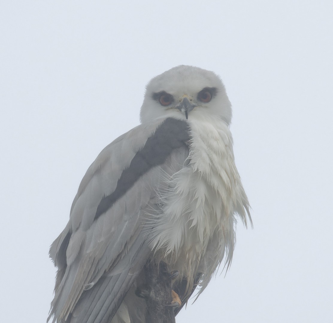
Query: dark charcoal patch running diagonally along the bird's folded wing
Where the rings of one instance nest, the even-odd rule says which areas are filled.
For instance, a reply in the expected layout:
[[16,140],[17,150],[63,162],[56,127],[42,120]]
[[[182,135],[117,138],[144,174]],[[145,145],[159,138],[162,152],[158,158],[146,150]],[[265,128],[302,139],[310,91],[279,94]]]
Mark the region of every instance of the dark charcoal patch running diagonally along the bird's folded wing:
[[163,164],[173,149],[186,145],[189,139],[188,124],[185,121],[165,119],[155,133],[147,139],[142,150],[133,157],[130,166],[122,172],[116,189],[102,198],[94,220],[108,211],[142,175],[152,167]]

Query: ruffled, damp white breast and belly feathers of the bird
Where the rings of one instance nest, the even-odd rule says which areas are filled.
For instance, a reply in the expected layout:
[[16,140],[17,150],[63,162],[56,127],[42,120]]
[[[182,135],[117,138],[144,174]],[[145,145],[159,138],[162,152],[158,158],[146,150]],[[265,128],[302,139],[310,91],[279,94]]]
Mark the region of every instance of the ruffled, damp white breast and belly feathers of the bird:
[[[216,118],[216,117],[215,117]],[[189,164],[169,180],[161,194],[163,213],[152,245],[180,276],[205,273],[205,287],[235,243],[236,215],[246,225],[248,200],[234,162],[229,127],[217,119],[188,120]]]

